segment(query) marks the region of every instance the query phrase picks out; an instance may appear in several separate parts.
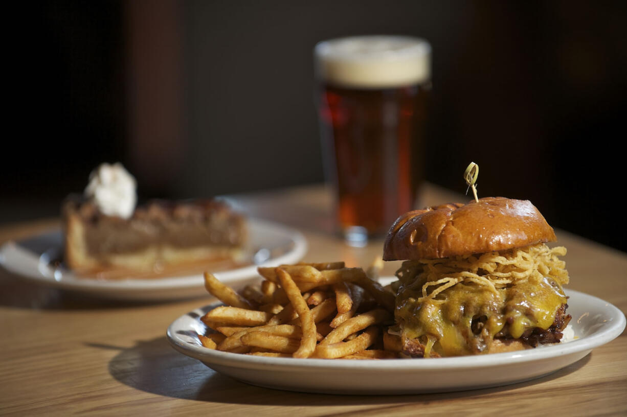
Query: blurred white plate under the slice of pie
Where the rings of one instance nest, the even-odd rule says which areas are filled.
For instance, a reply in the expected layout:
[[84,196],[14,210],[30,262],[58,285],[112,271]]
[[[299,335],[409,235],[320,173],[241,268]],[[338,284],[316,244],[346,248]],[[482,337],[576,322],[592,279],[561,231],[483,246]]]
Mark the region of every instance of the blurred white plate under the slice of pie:
[[[60,230],[35,235],[0,247],[0,265],[31,281],[63,289],[88,292],[95,296],[127,300],[164,300],[207,295],[203,276],[163,277],[102,281],[76,277],[71,270],[51,266],[60,257]],[[291,264],[307,252],[307,240],[297,230],[283,225],[250,219],[249,242],[245,254],[251,265],[216,272],[221,281],[238,288],[258,280],[256,269],[263,265]]]

